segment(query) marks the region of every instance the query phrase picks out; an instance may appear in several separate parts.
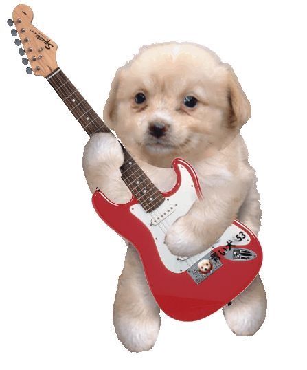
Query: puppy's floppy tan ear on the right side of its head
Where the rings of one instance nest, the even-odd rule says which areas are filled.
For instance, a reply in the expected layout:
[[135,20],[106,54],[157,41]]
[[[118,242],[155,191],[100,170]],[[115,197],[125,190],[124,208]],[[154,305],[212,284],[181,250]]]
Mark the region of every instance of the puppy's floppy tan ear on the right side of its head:
[[251,105],[231,65],[228,71],[229,126],[240,129],[251,118]]

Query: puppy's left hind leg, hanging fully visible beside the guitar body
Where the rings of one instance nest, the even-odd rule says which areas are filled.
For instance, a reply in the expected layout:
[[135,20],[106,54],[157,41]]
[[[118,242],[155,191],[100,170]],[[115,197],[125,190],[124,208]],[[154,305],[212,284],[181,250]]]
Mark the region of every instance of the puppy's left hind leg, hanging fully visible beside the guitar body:
[[128,246],[113,309],[117,338],[130,352],[148,351],[157,340],[159,307],[148,287],[135,248]]

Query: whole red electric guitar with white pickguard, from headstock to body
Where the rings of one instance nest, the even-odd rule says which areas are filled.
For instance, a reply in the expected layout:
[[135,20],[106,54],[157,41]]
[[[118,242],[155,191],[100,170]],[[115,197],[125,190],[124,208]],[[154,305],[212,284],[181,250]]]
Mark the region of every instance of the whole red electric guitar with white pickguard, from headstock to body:
[[[27,73],[44,76],[73,116],[89,134],[110,133],[56,63],[56,43],[32,25],[29,6],[14,8],[8,20]],[[177,184],[161,193],[124,149],[122,180],[133,193],[127,204],[111,202],[99,190],[93,195],[98,215],[128,239],[141,257],[152,294],[161,309],[177,320],[198,320],[227,305],[255,279],[262,250],[253,232],[234,221],[213,246],[192,257],[175,256],[168,250],[168,228],[185,215],[203,195],[192,166],[182,159],[173,162]],[[205,196],[205,195],[204,195]]]

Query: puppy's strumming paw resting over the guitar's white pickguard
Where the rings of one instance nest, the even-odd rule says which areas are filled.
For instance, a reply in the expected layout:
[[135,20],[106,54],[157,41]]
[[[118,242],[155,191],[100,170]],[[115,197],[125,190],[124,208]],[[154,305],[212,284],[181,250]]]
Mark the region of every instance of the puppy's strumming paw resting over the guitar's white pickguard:
[[170,227],[166,234],[166,245],[176,256],[192,256],[205,249],[186,217],[181,217]]

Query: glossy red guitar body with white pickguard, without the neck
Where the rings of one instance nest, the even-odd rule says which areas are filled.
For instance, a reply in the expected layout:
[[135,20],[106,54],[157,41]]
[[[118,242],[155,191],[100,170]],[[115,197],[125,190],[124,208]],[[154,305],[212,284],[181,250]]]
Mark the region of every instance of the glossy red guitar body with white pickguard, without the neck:
[[[173,168],[177,184],[163,193],[166,201],[152,213],[146,213],[135,197],[127,204],[115,204],[100,191],[93,194],[93,206],[137,249],[163,312],[177,320],[199,320],[229,303],[255,279],[262,250],[253,232],[234,221],[208,250],[190,258],[171,254],[164,241],[168,228],[201,197],[193,168],[181,159],[174,160]],[[200,269],[201,261],[209,263],[209,272]]]

